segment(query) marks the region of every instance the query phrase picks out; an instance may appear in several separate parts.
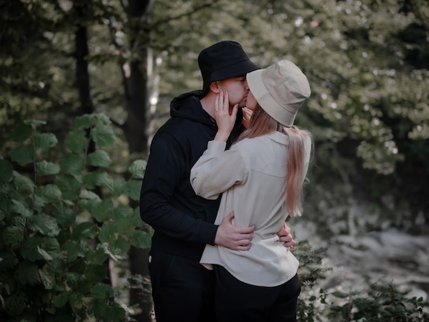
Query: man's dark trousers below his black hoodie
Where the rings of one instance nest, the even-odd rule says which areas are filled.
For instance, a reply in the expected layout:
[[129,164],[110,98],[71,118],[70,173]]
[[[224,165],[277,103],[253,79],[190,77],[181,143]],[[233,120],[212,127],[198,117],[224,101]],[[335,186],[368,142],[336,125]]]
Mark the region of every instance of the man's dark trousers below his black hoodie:
[[215,276],[191,260],[151,251],[149,273],[156,322],[215,322]]

